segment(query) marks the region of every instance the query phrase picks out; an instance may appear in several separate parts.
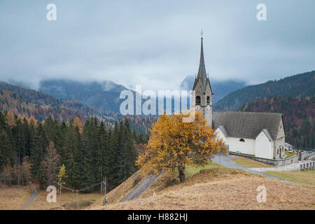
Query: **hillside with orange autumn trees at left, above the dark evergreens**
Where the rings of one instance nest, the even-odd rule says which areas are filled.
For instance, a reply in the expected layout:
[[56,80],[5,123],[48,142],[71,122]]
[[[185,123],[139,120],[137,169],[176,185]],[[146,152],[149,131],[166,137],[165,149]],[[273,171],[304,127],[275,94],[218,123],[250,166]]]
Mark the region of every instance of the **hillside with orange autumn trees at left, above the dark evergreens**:
[[57,120],[70,120],[77,116],[82,120],[90,116],[106,120],[120,118],[118,113],[102,111],[77,101],[58,99],[49,94],[3,82],[0,83],[0,110],[27,117],[34,116],[38,120],[45,120],[49,116]]

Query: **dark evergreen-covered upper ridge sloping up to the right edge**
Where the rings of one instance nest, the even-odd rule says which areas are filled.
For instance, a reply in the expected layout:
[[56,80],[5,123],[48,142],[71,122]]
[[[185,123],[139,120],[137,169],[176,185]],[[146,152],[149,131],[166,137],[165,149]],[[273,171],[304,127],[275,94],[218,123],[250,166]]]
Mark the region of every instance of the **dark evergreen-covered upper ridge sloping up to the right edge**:
[[259,85],[249,85],[231,92],[214,104],[215,111],[237,111],[246,103],[265,97],[307,97],[315,93],[315,71],[300,73],[295,76],[269,80]]

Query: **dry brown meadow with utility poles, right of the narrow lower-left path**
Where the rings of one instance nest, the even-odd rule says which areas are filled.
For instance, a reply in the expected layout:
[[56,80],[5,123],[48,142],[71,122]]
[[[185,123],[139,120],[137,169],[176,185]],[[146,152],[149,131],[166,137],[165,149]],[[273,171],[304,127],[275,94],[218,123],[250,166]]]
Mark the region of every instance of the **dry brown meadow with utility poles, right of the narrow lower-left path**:
[[[48,203],[46,197],[48,192],[45,190],[40,190],[36,200],[32,202],[26,210],[55,210],[60,209],[60,197],[57,193],[57,202]],[[103,197],[103,193],[78,193],[78,208],[76,192],[70,192],[68,190],[62,190],[62,209],[75,210],[75,209],[85,209],[89,207],[92,203]]]

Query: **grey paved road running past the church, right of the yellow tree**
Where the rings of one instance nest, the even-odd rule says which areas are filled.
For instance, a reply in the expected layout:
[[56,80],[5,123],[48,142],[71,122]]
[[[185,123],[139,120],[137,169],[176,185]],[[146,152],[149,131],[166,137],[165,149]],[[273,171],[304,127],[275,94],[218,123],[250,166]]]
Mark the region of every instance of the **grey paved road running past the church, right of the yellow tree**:
[[250,173],[253,173],[253,174],[258,174],[258,175],[266,176],[266,177],[268,177],[268,178],[278,179],[278,180],[281,180],[281,181],[287,181],[287,180],[281,179],[281,178],[279,178],[279,177],[277,177],[277,176],[272,176],[272,175],[269,175],[269,174],[264,174],[264,173],[258,172],[258,171],[256,171],[256,170],[253,170],[253,169],[250,169],[250,168],[247,168],[247,167],[243,167],[243,166],[237,164],[237,163],[234,161],[235,158],[239,158],[239,157],[237,157],[237,155],[228,155],[228,156],[225,156],[225,155],[221,155],[221,156],[215,155],[212,160],[213,160],[214,162],[220,163],[221,165],[223,165],[223,166],[225,166],[225,167],[228,167],[228,168],[243,169],[244,171],[250,172]]

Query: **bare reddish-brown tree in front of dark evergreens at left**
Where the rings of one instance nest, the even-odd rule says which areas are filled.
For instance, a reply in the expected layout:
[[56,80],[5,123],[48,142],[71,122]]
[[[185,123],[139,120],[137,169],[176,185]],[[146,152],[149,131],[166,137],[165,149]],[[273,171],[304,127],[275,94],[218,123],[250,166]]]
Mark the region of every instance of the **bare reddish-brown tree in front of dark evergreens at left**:
[[60,155],[57,154],[55,144],[49,141],[46,148],[45,158],[41,161],[41,172],[48,180],[48,186],[51,185],[51,181],[56,179],[58,166],[60,162]]

